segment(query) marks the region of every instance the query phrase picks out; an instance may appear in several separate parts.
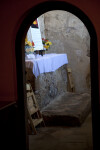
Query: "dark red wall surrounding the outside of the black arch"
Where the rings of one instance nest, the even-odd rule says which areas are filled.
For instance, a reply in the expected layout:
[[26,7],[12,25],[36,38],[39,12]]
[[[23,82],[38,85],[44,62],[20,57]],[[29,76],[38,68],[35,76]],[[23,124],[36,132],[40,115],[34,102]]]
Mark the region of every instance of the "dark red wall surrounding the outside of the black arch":
[[[44,0],[4,0],[0,2],[0,101],[17,100],[15,56],[16,34],[19,30],[23,19],[27,15],[26,11],[43,1]],[[80,8],[92,21],[97,32],[98,57],[100,57],[100,20],[98,19],[100,14],[99,1],[65,1],[70,2],[76,7]]]

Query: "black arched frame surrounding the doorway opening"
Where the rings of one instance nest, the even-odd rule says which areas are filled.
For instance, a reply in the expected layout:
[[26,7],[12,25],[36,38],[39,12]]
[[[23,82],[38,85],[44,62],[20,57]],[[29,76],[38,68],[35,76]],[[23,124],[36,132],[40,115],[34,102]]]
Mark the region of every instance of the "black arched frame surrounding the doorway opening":
[[98,49],[97,49],[97,36],[93,24],[89,18],[75,6],[66,2],[46,2],[32,8],[25,14],[25,19],[16,36],[16,64],[17,64],[17,83],[18,83],[18,107],[20,112],[21,136],[23,144],[26,147],[26,94],[25,94],[25,64],[24,64],[24,39],[26,32],[32,23],[41,14],[50,10],[65,10],[76,15],[88,29],[91,37],[90,43],[90,65],[91,65],[91,102],[92,102],[92,122],[93,122],[93,143],[94,149],[98,147],[97,133],[99,130],[98,115],[99,115],[99,88],[98,88]]

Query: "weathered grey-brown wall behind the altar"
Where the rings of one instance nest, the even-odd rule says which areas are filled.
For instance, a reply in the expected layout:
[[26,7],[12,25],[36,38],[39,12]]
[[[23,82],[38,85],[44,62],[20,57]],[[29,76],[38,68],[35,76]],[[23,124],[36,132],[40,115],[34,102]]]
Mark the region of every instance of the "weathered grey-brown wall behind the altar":
[[88,91],[90,89],[87,83],[90,82],[90,77],[89,81],[87,80],[90,70],[88,57],[90,36],[85,25],[76,16],[66,11],[50,11],[42,17],[44,18],[42,31],[44,30],[45,37],[52,42],[47,53],[67,53],[68,66],[72,69],[76,92]]

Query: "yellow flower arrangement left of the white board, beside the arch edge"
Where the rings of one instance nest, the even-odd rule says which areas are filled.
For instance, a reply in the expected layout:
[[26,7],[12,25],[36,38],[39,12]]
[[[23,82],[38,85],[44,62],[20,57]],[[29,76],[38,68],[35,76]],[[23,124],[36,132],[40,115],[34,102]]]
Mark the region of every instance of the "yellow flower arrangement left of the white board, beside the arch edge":
[[25,38],[25,52],[26,53],[33,53],[34,52],[34,42],[28,41],[27,36]]

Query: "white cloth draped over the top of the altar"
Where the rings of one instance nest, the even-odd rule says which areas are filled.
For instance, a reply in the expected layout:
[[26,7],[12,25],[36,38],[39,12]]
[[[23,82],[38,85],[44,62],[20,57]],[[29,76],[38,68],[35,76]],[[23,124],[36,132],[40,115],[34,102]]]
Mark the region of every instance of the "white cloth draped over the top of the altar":
[[54,72],[59,67],[64,64],[68,64],[67,54],[45,54],[41,55],[29,55],[28,59],[25,60],[31,61],[33,63],[33,74],[37,78],[41,73]]

